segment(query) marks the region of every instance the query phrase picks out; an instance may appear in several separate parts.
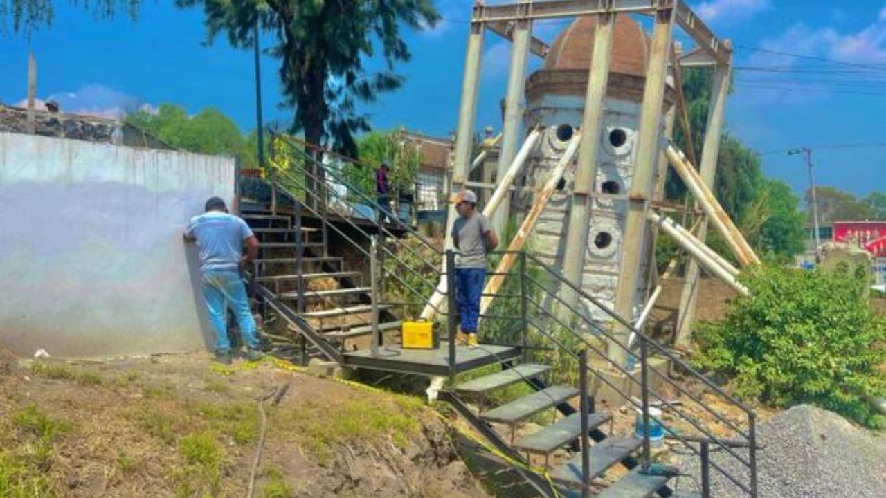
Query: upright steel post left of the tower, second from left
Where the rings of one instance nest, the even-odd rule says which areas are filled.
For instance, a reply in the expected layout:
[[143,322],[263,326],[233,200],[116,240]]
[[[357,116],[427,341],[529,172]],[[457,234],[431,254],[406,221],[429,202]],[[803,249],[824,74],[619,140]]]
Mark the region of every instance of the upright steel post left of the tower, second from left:
[[[523,124],[523,113],[520,100],[526,81],[526,61],[529,59],[529,42],[532,39],[532,21],[518,20],[512,33],[514,42],[510,46],[510,68],[508,74],[508,91],[505,94],[504,124],[501,127],[501,152],[498,161],[498,179],[501,180],[510,167],[520,144],[520,128]],[[508,226],[510,213],[510,194],[501,199],[501,206],[493,216],[493,228],[496,233],[503,234]]]

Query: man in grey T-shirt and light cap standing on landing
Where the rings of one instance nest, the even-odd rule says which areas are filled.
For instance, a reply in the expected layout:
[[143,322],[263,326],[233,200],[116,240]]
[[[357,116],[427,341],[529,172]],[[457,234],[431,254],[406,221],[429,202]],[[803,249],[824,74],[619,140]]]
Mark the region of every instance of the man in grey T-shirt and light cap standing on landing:
[[459,341],[476,347],[480,315],[480,294],[486,279],[486,252],[498,245],[498,236],[489,220],[477,212],[477,194],[461,191],[453,199],[458,218],[452,230],[455,256],[455,290],[461,316]]

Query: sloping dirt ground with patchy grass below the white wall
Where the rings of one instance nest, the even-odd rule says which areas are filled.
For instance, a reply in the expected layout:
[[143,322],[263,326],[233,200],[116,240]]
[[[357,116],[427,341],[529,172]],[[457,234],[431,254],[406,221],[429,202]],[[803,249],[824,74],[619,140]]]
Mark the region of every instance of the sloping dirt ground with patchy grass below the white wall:
[[105,362],[0,356],[4,498],[487,496],[424,401],[207,354]]

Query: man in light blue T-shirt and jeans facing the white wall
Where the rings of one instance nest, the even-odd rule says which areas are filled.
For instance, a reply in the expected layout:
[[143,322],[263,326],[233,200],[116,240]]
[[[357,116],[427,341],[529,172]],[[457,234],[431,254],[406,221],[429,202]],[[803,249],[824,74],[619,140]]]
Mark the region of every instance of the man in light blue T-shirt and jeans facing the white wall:
[[241,218],[228,214],[224,201],[214,197],[206,201],[206,213],[190,219],[184,240],[197,242],[199,249],[203,297],[215,331],[215,361],[231,362],[226,320],[228,307],[240,324],[240,333],[248,348],[247,359],[251,362],[259,360],[262,354],[255,333],[255,319],[249,309],[246,286],[240,277],[241,265],[253,261],[259,253],[259,240],[253,230]]

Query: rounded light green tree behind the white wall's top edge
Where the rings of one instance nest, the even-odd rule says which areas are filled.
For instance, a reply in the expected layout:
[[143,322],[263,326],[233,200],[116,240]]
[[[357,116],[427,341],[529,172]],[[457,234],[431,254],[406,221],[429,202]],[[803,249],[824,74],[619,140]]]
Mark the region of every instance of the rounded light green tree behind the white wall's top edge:
[[235,156],[241,167],[257,167],[251,141],[234,121],[212,107],[189,116],[180,105],[163,104],[157,113],[138,111],[129,114],[126,121],[177,149]]

